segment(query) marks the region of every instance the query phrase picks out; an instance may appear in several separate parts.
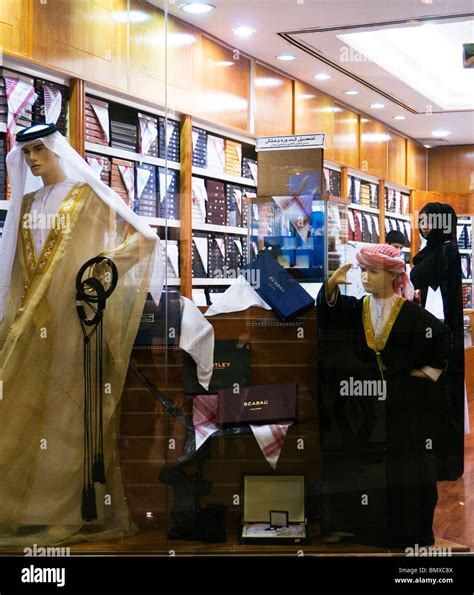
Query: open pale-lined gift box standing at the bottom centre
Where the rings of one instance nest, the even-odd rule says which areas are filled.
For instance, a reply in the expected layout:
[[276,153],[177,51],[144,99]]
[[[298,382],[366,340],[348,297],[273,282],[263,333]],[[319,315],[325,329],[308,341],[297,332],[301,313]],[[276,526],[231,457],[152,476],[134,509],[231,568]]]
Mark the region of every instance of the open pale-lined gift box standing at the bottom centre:
[[[241,489],[241,543],[309,543],[303,475],[243,475]],[[288,522],[275,526],[275,517]]]

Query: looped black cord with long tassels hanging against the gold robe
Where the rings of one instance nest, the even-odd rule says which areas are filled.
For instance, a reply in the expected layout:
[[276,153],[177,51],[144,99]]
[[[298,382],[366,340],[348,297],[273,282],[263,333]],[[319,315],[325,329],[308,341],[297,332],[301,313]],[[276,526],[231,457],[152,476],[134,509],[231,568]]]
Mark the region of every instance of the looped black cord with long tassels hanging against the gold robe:
[[[110,269],[110,273],[106,273],[110,275],[108,289],[96,277],[82,279],[87,269],[98,264],[105,264]],[[117,280],[115,263],[104,256],[88,260],[76,277],[76,310],[84,335],[84,485],[81,514],[85,521],[97,518],[94,483],[105,484],[103,318],[106,300],[114,291]],[[95,365],[92,362],[94,339]]]

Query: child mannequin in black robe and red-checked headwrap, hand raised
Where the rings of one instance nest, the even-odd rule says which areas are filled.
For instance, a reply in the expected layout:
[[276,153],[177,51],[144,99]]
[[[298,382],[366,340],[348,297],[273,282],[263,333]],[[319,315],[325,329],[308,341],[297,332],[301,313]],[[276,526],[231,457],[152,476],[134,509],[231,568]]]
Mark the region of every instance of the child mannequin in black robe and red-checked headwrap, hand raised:
[[[408,299],[396,248],[357,253],[368,296],[342,296],[350,264],[317,300],[320,352],[322,534],[407,547],[434,543],[431,448],[449,330]],[[441,377],[441,378],[440,378]]]

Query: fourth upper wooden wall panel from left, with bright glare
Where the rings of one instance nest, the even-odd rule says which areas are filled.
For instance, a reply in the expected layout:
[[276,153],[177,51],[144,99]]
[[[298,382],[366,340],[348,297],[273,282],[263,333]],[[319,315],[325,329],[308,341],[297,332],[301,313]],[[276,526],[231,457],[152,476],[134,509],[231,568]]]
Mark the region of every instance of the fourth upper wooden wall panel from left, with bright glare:
[[193,97],[199,115],[218,124],[248,130],[250,60],[203,36],[200,68],[200,92]]

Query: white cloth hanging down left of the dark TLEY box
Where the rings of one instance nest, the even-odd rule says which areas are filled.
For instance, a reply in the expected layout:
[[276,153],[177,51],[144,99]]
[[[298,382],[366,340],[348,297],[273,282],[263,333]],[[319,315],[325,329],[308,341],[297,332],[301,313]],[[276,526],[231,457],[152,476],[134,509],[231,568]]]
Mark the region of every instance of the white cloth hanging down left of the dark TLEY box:
[[214,328],[191,300],[181,296],[180,304],[179,346],[196,362],[199,384],[208,390],[214,370]]

